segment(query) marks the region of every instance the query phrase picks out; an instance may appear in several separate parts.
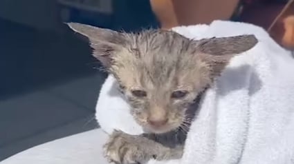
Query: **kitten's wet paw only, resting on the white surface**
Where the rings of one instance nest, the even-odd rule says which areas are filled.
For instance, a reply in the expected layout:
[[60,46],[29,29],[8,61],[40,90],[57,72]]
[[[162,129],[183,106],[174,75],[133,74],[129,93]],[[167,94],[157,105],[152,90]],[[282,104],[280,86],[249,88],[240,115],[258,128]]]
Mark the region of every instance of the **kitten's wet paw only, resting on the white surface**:
[[[138,164],[145,163],[152,155],[145,151],[144,139],[124,132],[113,132],[104,145],[104,156],[111,163]],[[149,147],[149,146],[148,146]]]

